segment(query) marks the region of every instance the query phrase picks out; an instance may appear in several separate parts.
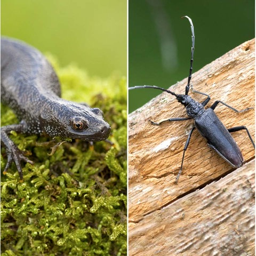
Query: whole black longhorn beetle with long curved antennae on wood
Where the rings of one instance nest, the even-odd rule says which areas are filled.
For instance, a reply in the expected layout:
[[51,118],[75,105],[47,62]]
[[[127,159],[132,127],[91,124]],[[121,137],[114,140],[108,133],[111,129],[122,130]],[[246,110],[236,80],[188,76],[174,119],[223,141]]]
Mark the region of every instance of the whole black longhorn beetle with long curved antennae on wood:
[[243,111],[252,109],[252,108],[246,108],[243,110],[237,110],[233,107],[230,107],[226,103],[217,100],[213,103],[213,105],[210,108],[205,109],[204,107],[206,104],[210,101],[210,95],[199,92],[196,90],[193,90],[193,85],[191,84],[191,91],[194,93],[205,95],[207,98],[202,102],[198,102],[194,99],[192,99],[189,95],[189,87],[190,87],[190,80],[191,80],[191,74],[192,74],[192,66],[194,61],[194,50],[195,50],[195,33],[194,33],[194,26],[192,20],[188,16],[183,16],[181,18],[187,18],[189,20],[190,26],[191,26],[191,33],[192,33],[192,47],[191,47],[191,59],[190,59],[190,68],[189,68],[189,76],[188,76],[188,83],[186,85],[185,94],[175,94],[174,92],[170,90],[166,90],[161,87],[157,86],[151,86],[151,85],[142,85],[142,86],[134,86],[129,87],[129,90],[133,89],[143,89],[143,88],[151,88],[151,89],[157,89],[161,90],[167,93],[172,94],[176,97],[178,102],[180,102],[182,105],[185,106],[187,110],[187,115],[189,117],[178,117],[178,118],[169,118],[162,122],[156,123],[151,120],[149,122],[153,125],[161,125],[163,122],[169,121],[169,122],[175,122],[175,121],[184,121],[188,119],[194,119],[194,125],[189,131],[187,141],[185,143],[185,147],[183,149],[183,156],[181,161],[181,166],[179,173],[176,177],[175,182],[177,183],[180,177],[180,174],[182,172],[182,166],[183,161],[185,157],[185,152],[188,148],[189,141],[191,138],[191,135],[195,128],[199,131],[199,133],[207,140],[207,143],[210,148],[214,149],[222,158],[224,158],[231,166],[238,168],[243,165],[244,158],[241,153],[241,150],[238,148],[235,140],[230,135],[231,132],[237,132],[240,130],[246,130],[249,139],[252,142],[253,147],[255,148],[254,142],[252,140],[252,137],[250,135],[250,132],[245,126],[236,126],[233,128],[226,129],[226,127],[221,123],[220,119],[217,117],[217,115],[214,113],[215,107],[219,103],[222,103],[226,107],[234,110],[236,113],[241,113]]

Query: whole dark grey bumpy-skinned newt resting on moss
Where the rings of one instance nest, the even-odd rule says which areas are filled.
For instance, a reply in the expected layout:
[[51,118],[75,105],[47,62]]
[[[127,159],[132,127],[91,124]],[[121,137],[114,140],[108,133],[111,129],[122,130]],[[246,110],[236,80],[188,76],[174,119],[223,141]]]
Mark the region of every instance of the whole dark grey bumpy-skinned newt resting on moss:
[[41,52],[6,37],[1,38],[1,100],[20,121],[1,127],[7,153],[4,171],[14,161],[21,179],[20,161],[33,162],[8,137],[11,131],[85,141],[106,140],[110,133],[100,109],[60,98],[59,79]]

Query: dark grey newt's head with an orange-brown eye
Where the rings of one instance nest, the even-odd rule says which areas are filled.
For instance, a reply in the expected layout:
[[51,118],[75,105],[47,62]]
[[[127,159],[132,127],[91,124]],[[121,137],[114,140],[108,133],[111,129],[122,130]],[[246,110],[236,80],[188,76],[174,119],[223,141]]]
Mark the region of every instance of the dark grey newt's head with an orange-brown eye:
[[111,130],[99,108],[90,108],[71,101],[63,100],[58,105],[55,104],[51,113],[42,113],[41,117],[44,131],[51,137],[101,141],[109,137]]

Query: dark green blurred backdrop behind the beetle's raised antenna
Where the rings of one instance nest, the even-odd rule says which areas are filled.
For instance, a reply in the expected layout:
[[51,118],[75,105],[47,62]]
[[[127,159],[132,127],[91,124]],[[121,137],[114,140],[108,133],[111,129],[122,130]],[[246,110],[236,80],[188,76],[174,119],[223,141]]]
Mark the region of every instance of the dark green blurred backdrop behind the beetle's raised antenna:
[[[188,15],[195,27],[194,72],[254,37],[253,0],[130,0],[129,86],[167,89],[188,77],[191,30],[188,20],[180,18],[183,15]],[[129,91],[129,111],[159,93]]]

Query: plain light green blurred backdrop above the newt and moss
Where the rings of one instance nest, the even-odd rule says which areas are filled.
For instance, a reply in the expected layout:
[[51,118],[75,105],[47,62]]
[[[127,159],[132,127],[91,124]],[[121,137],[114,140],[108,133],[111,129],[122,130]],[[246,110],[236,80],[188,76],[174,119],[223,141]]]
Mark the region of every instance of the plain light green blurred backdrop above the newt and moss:
[[89,75],[126,76],[126,0],[2,0],[1,34]]

